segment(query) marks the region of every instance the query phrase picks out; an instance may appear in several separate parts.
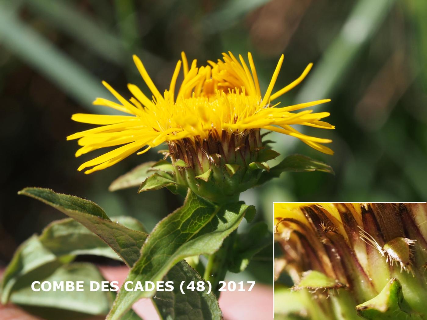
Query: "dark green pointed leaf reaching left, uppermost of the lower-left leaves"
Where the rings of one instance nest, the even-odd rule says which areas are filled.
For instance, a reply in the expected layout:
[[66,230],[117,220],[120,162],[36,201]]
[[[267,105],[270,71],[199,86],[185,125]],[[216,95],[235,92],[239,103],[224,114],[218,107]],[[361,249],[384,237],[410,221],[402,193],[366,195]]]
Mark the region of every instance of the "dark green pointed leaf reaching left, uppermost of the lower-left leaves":
[[25,188],[18,193],[40,200],[80,222],[107,243],[127,265],[132,266],[139,258],[146,234],[111,221],[92,201],[43,188]]

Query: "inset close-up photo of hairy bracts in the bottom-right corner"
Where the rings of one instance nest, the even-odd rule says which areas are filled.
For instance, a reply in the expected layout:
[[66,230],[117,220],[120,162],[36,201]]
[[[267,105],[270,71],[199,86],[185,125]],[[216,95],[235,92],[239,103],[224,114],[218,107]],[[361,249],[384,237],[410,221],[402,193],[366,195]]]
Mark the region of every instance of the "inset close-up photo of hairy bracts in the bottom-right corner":
[[275,203],[275,319],[427,317],[426,203]]

